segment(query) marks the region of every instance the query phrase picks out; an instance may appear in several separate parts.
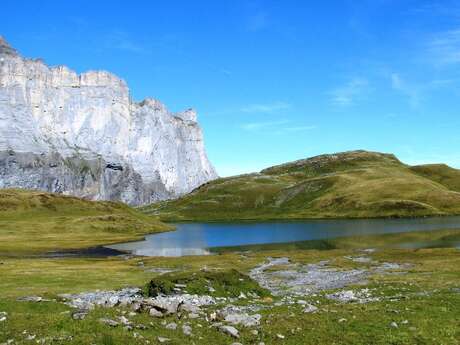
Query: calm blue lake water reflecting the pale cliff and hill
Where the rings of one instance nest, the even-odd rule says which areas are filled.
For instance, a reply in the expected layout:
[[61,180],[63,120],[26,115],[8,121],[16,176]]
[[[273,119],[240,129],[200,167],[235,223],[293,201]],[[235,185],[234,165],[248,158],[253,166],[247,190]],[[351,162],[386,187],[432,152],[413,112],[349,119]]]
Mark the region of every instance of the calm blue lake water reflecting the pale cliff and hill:
[[[284,243],[369,234],[460,228],[460,217],[414,219],[307,220],[266,223],[182,223],[177,230],[148,235],[144,241],[107,246],[145,256],[210,254],[212,247]],[[434,243],[434,242],[433,242]],[[425,243],[401,243],[420,248]],[[460,243],[442,246],[459,247]]]

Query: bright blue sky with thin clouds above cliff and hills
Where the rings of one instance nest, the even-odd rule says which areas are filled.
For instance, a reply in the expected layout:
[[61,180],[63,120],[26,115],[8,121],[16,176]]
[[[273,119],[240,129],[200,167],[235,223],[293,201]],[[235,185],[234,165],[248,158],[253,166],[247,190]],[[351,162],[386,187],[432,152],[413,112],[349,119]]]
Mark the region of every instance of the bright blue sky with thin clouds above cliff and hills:
[[193,107],[218,172],[351,149],[460,168],[458,1],[3,0],[27,57]]

